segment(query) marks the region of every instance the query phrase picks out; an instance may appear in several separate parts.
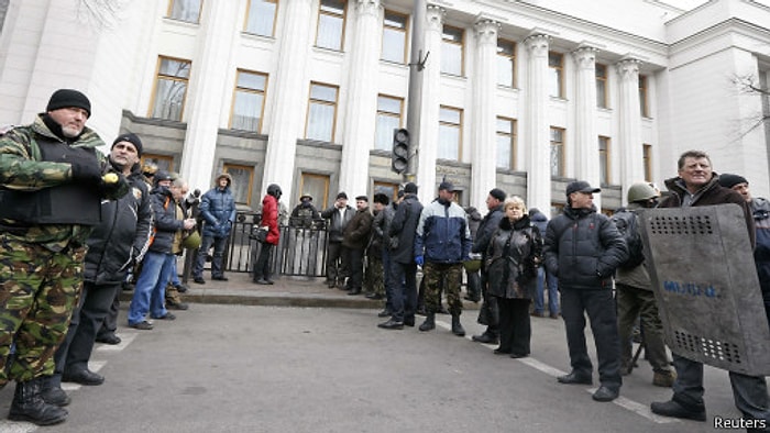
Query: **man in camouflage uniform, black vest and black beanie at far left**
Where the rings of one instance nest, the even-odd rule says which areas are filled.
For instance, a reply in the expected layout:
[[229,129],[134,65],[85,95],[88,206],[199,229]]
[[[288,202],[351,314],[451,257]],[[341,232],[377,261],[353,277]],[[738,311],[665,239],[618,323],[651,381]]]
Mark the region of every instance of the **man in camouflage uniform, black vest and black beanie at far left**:
[[0,385],[16,381],[10,420],[66,420],[42,399],[43,376],[78,302],[101,199],[129,190],[121,175],[102,179],[105,143],[85,126],[89,116],[85,95],[61,89],[31,125],[0,137]]

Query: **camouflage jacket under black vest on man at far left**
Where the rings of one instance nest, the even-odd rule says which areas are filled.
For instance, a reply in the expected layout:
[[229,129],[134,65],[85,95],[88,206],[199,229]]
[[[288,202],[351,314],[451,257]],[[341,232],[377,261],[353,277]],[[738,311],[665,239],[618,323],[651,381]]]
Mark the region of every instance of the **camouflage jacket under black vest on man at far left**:
[[[14,127],[0,136],[0,188],[36,191],[73,180],[70,164],[40,160],[41,151],[37,141],[42,140],[66,143],[51,132],[43,122],[42,114],[37,115],[31,125]],[[67,144],[94,147],[99,164],[105,168],[108,167],[107,158],[96,148],[103,146],[105,142],[95,131],[85,127],[75,142]],[[117,199],[125,192],[128,188],[120,188],[105,198]],[[13,221],[0,221],[0,224],[13,225]],[[0,229],[0,233],[4,236],[21,242],[43,244],[52,251],[64,249],[70,241],[76,245],[85,245],[90,231],[90,226],[77,224],[33,225],[12,231]]]

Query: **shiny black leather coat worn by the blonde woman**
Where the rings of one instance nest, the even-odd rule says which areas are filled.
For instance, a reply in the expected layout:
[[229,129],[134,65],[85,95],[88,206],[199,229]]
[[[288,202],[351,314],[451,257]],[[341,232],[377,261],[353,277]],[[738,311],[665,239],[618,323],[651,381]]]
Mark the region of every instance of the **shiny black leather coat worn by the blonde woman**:
[[507,218],[502,219],[486,252],[490,295],[508,299],[532,298],[541,254],[540,231],[527,215],[513,225]]

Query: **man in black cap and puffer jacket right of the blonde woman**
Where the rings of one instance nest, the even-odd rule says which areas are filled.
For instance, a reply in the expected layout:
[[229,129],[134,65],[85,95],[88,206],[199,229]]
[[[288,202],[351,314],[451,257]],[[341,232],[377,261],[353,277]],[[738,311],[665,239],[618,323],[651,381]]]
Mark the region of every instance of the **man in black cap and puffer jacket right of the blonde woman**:
[[600,191],[582,180],[566,186],[564,213],[548,223],[543,253],[546,268],[559,278],[561,315],[572,366],[572,371],[558,380],[560,384],[593,382],[584,333],[587,312],[601,382],[593,399],[612,401],[618,397],[623,385],[613,273],[628,257],[628,248],[609,218],[596,212],[593,195]]

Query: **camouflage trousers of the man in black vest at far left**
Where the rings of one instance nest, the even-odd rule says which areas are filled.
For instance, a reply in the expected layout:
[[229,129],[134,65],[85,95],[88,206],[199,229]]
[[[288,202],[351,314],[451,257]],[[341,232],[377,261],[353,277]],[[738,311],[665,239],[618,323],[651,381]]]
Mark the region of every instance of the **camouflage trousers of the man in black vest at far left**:
[[0,386],[54,373],[54,352],[82,288],[85,256],[82,246],[54,253],[0,234]]

